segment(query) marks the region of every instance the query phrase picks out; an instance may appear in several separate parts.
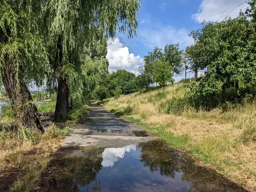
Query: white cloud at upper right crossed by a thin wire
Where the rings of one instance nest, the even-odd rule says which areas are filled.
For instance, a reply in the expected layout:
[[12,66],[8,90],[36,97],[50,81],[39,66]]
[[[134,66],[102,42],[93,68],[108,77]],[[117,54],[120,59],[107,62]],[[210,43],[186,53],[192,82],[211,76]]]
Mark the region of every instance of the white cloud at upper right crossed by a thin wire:
[[[204,20],[217,21],[243,2],[244,0],[203,0],[198,12],[192,15],[192,19],[200,23]],[[244,11],[247,7],[248,4],[243,3],[227,16],[235,18],[239,15],[240,9]]]

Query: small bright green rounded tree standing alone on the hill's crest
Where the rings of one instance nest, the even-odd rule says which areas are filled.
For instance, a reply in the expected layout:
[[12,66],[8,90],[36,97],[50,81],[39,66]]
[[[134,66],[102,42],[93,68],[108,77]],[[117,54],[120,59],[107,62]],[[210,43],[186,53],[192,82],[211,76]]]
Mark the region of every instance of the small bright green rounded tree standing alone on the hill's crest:
[[156,66],[153,69],[153,79],[155,82],[159,83],[163,87],[163,92],[165,91],[166,84],[168,82],[174,82],[172,79],[173,68],[169,65],[167,61],[155,61]]

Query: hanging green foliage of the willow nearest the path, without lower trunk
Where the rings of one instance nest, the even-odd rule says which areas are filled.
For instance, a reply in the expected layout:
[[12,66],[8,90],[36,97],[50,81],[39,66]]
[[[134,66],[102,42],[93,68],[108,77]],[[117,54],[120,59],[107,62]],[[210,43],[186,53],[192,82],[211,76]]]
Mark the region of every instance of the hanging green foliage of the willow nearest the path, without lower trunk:
[[[55,58],[52,75],[67,79],[71,107],[82,102],[107,75],[107,39],[115,38],[116,32],[136,35],[139,9],[140,0],[44,3],[46,41]],[[56,53],[60,54],[58,58]]]

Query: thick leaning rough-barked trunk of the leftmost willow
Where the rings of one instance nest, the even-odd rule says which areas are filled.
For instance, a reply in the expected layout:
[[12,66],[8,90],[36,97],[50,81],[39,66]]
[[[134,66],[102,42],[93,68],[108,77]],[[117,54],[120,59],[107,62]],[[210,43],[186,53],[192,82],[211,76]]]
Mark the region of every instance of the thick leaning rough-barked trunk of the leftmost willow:
[[19,85],[15,77],[15,67],[9,63],[6,58],[5,67],[2,71],[3,85],[12,104],[12,110],[18,122],[21,122],[29,129],[37,128],[39,122],[35,112],[36,106],[32,103],[32,96],[23,81],[22,75],[19,74]]

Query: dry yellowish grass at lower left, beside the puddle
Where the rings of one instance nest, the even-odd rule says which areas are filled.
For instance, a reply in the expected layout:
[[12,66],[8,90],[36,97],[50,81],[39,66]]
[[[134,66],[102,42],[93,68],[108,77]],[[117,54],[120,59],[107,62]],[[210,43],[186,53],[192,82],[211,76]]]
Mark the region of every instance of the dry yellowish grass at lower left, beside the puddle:
[[48,133],[35,134],[33,140],[0,140],[0,191],[36,191],[41,173],[70,130],[52,125]]

